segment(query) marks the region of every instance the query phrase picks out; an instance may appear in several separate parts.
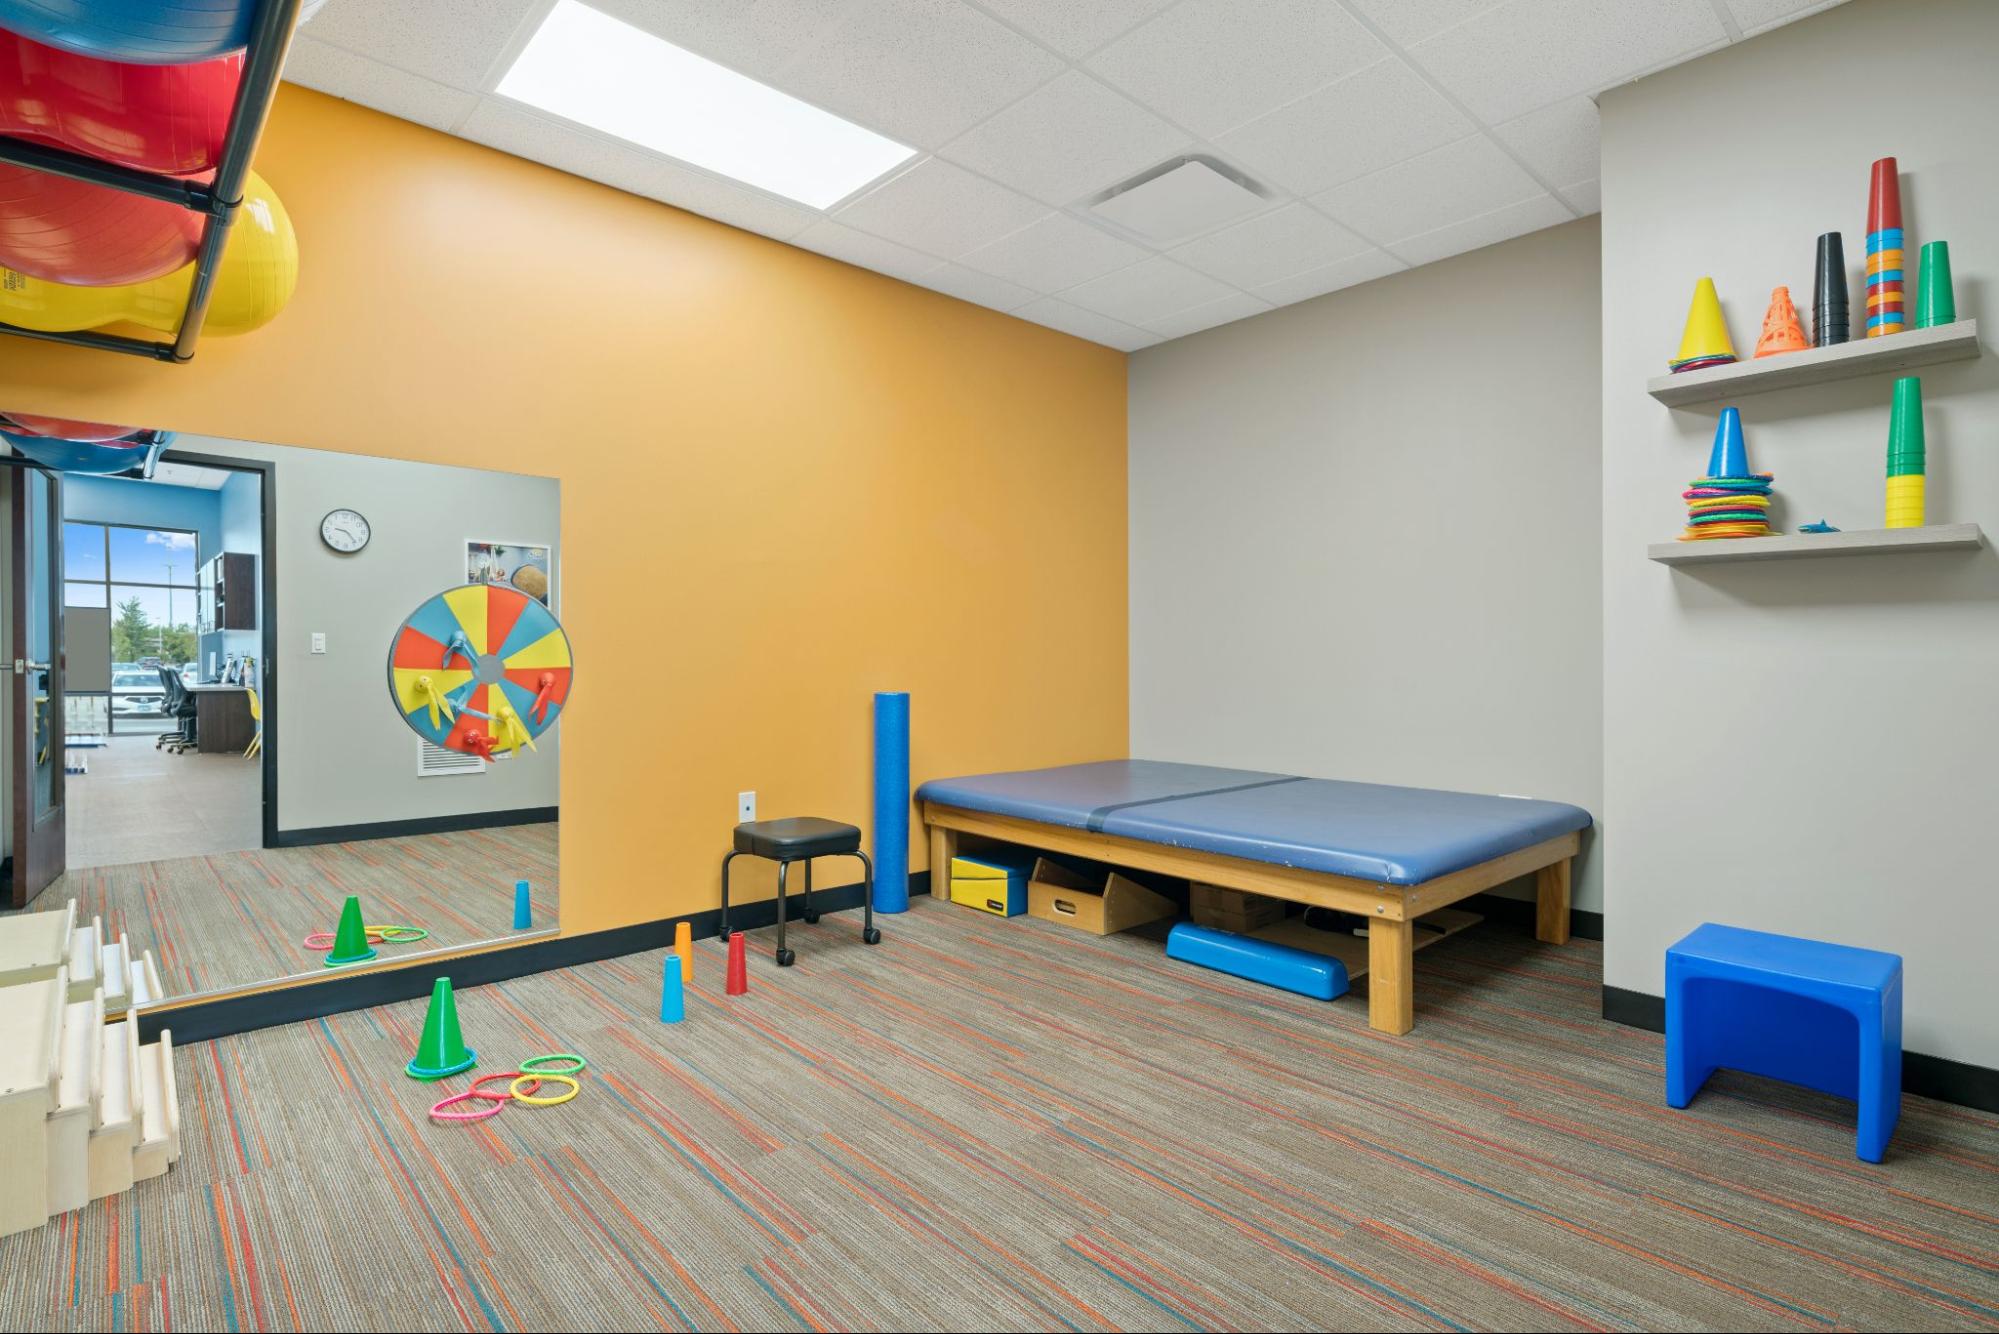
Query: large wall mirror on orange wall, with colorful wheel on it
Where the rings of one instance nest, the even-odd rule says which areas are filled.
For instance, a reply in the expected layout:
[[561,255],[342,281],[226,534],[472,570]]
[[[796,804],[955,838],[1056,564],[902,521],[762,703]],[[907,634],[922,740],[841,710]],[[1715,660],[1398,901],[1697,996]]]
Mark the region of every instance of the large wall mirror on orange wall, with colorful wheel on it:
[[20,422],[0,912],[74,912],[112,1002],[556,934],[554,478],[186,434],[102,476]]

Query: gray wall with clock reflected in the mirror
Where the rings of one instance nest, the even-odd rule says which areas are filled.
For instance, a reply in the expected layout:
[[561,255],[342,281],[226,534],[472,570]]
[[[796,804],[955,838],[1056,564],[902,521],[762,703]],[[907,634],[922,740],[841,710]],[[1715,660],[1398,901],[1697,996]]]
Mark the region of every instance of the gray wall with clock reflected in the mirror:
[[[418,778],[416,734],[388,696],[390,638],[424,598],[466,582],[466,540],[550,542],[562,614],[560,484],[390,458],[180,436],[194,454],[278,464],[278,828],[554,806],[560,726],[480,776]],[[368,516],[358,556],[320,542],[334,508]],[[312,632],[326,654],[312,654]]]

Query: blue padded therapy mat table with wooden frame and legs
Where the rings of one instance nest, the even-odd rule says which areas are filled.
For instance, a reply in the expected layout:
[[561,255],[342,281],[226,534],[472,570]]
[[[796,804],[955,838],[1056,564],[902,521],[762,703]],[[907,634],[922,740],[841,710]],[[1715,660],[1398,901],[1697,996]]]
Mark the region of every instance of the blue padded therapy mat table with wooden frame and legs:
[[1563,944],[1589,828],[1565,802],[1161,760],[934,778],[916,798],[932,866],[978,834],[1361,914],[1367,1020],[1383,1032],[1413,1022],[1409,924],[1425,912],[1535,872],[1535,934]]

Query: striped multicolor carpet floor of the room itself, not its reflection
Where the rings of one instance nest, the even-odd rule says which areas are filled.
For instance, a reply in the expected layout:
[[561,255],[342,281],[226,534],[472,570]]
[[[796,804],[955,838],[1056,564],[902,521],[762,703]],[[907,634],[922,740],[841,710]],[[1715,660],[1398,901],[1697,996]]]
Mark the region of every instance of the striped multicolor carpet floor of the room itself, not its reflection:
[[[1417,1028],[924,900],[752,936],[688,1022],[660,954],[464,992],[482,1126],[404,1078],[422,1004],[178,1052],[164,1180],[0,1242],[4,1328],[1833,1330],[1999,1326],[1999,1118],[1843,1104],[1595,1018],[1599,952],[1487,924]],[[464,1078],[450,1088],[462,1088]]]

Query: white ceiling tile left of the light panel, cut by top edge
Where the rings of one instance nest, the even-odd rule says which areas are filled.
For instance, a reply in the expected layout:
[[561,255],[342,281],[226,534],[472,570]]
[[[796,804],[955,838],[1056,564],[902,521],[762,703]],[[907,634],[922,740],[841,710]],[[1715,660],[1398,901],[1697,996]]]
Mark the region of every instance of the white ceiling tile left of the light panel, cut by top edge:
[[486,92],[494,64],[544,0],[426,0],[390,4],[360,0],[328,4],[312,18],[312,40],[368,56],[410,74]]

